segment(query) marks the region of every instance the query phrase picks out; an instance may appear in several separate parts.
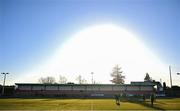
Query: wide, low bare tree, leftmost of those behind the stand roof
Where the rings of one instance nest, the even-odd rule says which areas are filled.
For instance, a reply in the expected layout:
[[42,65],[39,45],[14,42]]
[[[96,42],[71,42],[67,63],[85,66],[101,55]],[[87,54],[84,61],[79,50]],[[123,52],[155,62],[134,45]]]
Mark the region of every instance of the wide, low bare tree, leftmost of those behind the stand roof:
[[56,81],[54,77],[47,76],[39,78],[39,82],[42,84],[54,84]]

